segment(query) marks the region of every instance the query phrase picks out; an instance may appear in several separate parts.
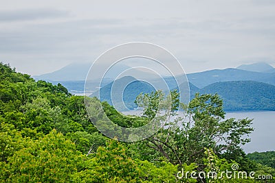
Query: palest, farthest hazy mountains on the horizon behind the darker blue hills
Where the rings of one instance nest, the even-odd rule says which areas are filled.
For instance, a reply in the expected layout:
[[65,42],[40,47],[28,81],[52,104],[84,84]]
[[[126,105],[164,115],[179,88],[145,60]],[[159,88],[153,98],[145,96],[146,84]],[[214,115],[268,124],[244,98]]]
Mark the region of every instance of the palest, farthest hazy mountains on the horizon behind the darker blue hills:
[[[34,75],[35,80],[46,80],[49,82],[61,81],[61,82],[74,82],[84,81],[87,77],[87,73],[91,63],[74,63],[69,64],[58,71],[47,73],[43,75]],[[120,73],[131,69],[130,66],[124,64],[115,64],[105,75],[105,78],[114,80]],[[94,75],[100,77],[100,69]],[[121,75],[120,77],[131,75],[133,77],[142,77],[146,80],[155,80],[157,77],[153,73],[148,73],[142,69],[131,69],[128,73]],[[269,64],[260,62],[255,64],[243,64],[236,69],[214,69],[210,71],[203,71],[199,73],[187,74],[189,82],[195,84],[199,88],[203,88],[208,84],[215,82],[228,82],[228,81],[256,81],[265,82],[267,84],[275,84],[275,69]],[[101,78],[89,78],[89,80],[100,80]],[[173,77],[164,77],[170,88],[177,86]],[[160,79],[159,79],[160,81]],[[157,81],[155,81],[157,82]],[[173,86],[172,86],[173,85]]]

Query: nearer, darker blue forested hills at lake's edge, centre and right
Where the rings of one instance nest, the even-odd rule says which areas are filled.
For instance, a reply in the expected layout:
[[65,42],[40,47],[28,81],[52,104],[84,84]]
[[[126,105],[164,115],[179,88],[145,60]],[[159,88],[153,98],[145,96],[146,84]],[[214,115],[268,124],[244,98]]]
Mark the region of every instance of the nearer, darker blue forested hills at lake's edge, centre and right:
[[[133,109],[137,106],[133,101],[140,93],[151,93],[153,86],[145,83],[134,81],[133,77],[122,77],[118,80],[118,86],[126,86],[124,89],[113,87],[113,82],[107,84],[100,89],[100,100],[107,101],[111,105],[116,103],[118,110],[125,110],[122,105],[122,99],[127,108]],[[223,108],[225,111],[240,110],[275,110],[275,86],[261,82],[253,81],[233,81],[233,82],[217,82],[210,84],[204,88],[197,88],[189,83],[190,99],[195,97],[195,93],[214,94],[217,93],[223,99]],[[113,87],[113,88],[112,88]],[[181,86],[179,86],[181,87]],[[113,101],[111,101],[111,88],[113,90]],[[175,88],[177,89],[177,88]],[[123,97],[120,97],[123,93]],[[91,97],[98,97],[96,92]]]

